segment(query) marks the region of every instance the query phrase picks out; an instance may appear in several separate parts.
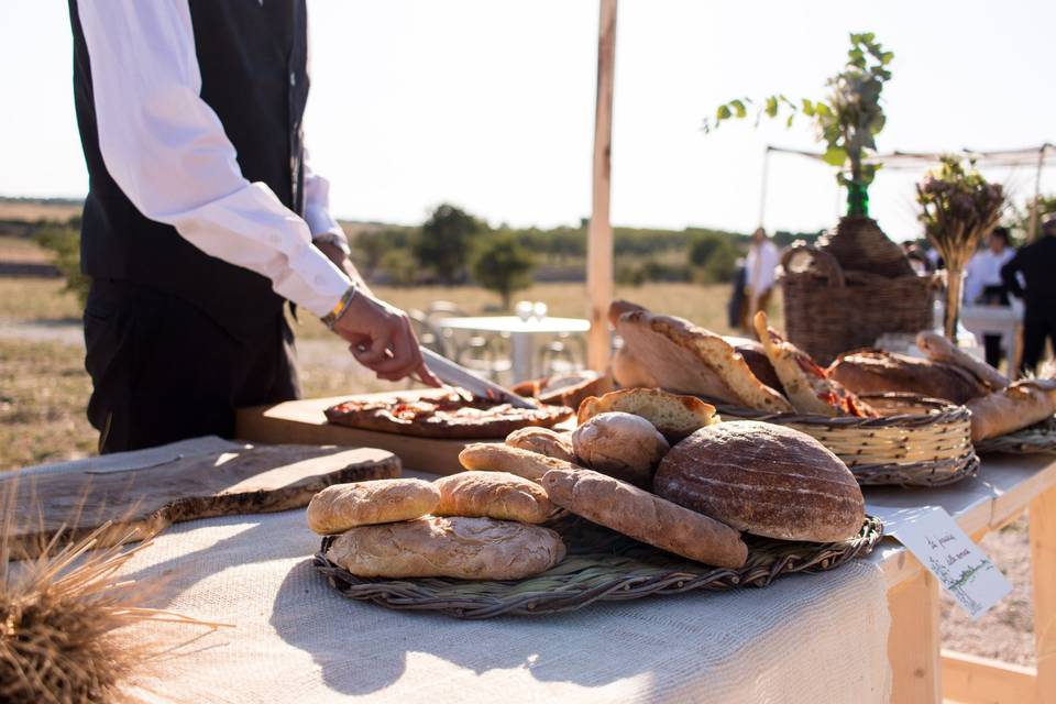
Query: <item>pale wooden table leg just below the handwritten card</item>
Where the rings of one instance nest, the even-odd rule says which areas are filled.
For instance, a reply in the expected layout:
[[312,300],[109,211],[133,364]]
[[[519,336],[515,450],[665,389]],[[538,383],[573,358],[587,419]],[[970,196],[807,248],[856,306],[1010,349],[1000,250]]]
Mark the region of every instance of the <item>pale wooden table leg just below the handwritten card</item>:
[[942,701],[938,634],[938,582],[926,570],[888,592],[891,632],[891,701],[934,704]]

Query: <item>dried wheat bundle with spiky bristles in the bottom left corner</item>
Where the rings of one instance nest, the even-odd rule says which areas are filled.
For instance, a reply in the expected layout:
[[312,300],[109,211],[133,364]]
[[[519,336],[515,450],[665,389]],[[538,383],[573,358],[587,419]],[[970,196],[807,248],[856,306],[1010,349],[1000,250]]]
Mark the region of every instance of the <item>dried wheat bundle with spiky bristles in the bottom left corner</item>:
[[0,502],[6,509],[0,525],[0,702],[121,701],[119,684],[154,652],[142,641],[114,637],[118,628],[147,620],[221,625],[143,608],[150,587],[121,581],[117,573],[150,542],[96,550],[110,524],[66,544],[56,535],[33,560],[9,562],[13,495]]

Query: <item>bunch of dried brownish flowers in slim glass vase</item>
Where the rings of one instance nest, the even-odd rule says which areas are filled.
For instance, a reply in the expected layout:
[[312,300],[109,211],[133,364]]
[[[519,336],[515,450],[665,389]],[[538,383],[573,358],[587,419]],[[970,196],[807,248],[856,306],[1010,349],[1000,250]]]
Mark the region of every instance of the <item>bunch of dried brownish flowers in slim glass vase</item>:
[[979,245],[979,239],[998,224],[1004,209],[1004,189],[990,184],[958,156],[941,157],[916,186],[924,232],[946,263],[946,308],[943,331],[957,342],[957,317],[965,267]]

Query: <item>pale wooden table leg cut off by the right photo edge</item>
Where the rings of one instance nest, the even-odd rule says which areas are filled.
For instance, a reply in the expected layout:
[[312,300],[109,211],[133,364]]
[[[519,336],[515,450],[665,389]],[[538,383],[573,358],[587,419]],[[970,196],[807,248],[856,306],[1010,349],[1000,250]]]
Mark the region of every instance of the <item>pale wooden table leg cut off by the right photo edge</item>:
[[1056,704],[1056,488],[1031,502],[1037,701]]

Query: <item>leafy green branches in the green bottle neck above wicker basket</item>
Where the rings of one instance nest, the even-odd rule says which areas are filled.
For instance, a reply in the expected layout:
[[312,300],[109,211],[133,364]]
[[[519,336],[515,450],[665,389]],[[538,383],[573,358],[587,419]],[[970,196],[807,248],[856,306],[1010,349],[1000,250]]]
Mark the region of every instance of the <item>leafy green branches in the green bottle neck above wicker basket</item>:
[[[869,217],[869,185],[880,164],[867,161],[876,155],[876,135],[886,121],[880,95],[891,79],[888,65],[894,54],[883,48],[872,32],[850,35],[850,50],[844,70],[826,81],[828,95],[821,100],[802,98],[799,102],[783,95],[768,96],[756,113],[756,123],[763,117],[784,117],[791,127],[802,113],[814,123],[818,141],[826,146],[822,160],[837,167],[836,180],[847,188],[847,215]],[[749,98],[725,102],[715,117],[704,121],[704,132],[717,129],[724,121],[748,117]]]

